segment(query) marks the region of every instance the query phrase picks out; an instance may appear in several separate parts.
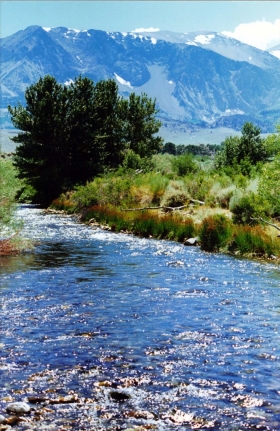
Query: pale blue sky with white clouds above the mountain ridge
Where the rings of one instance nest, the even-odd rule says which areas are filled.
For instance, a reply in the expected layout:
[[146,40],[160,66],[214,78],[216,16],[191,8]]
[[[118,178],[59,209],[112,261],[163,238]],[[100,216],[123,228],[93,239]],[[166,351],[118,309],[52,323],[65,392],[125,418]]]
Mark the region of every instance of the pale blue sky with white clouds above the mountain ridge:
[[122,32],[209,30],[266,49],[280,43],[280,2],[1,0],[0,37],[30,25]]

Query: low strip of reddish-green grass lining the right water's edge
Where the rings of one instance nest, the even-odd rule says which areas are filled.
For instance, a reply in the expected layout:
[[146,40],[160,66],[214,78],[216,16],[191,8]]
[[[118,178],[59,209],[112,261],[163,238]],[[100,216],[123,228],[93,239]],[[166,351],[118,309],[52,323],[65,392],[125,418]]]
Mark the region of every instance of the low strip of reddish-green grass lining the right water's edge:
[[[69,214],[69,208],[58,201],[46,213]],[[73,214],[72,211],[70,213]],[[203,251],[221,252],[249,259],[280,263],[280,239],[271,226],[234,225],[228,210],[204,206],[187,210],[124,211],[111,206],[92,206],[76,214],[82,223],[117,233],[144,238],[166,239],[186,246],[199,246]]]

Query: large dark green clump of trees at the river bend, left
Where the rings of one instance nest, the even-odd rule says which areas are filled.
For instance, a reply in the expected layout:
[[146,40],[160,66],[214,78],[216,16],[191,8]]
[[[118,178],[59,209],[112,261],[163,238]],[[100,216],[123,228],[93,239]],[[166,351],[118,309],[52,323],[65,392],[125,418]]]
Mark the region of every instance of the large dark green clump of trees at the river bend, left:
[[75,184],[116,169],[125,150],[140,157],[158,152],[162,139],[155,101],[146,94],[118,96],[114,80],[96,85],[79,77],[69,87],[45,76],[27,88],[26,106],[8,107],[21,132],[15,166],[44,205]]

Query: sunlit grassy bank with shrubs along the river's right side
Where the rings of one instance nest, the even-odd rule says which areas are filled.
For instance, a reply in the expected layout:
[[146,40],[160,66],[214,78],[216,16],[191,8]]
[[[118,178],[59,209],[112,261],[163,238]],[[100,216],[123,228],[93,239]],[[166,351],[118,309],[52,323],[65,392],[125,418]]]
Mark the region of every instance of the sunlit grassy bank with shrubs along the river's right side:
[[[96,178],[61,195],[51,207],[79,213],[85,223],[98,223],[114,232],[181,243],[196,237],[205,251],[280,258],[278,231],[250,219],[264,214],[256,208],[261,199],[251,196],[256,175],[230,177],[211,169],[209,159],[192,160],[190,172],[184,175],[176,173],[170,155],[157,155],[153,162],[150,172],[119,171]],[[243,202],[244,196],[251,200]]]

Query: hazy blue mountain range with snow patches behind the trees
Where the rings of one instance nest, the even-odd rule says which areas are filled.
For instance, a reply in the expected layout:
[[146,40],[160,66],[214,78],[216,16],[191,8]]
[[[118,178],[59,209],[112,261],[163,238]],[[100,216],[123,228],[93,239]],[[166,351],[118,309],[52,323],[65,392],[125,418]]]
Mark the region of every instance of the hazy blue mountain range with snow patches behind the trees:
[[240,131],[245,121],[270,132],[280,117],[280,59],[215,32],[32,26],[0,39],[0,49],[2,108],[24,103],[26,87],[40,76],[67,85],[81,74],[94,82],[115,79],[124,96],[156,97],[166,135]]

